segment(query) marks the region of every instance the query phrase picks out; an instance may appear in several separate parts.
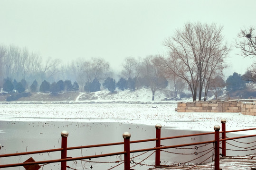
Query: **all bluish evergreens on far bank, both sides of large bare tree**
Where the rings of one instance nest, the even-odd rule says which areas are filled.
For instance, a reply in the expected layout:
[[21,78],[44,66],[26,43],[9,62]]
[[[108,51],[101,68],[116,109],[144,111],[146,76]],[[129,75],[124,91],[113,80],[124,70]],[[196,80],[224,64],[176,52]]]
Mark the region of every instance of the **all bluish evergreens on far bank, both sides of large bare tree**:
[[[236,92],[238,90],[245,90],[247,88],[246,84],[248,82],[247,73],[245,75],[240,75],[237,73],[233,73],[232,76],[228,76],[227,80],[225,81],[221,76],[217,76],[214,83],[210,85],[211,92],[218,98],[219,95],[223,94],[224,88],[226,89],[227,93]],[[168,81],[165,78],[156,79],[157,87],[158,88],[166,88],[168,85]],[[180,84],[179,84],[180,85]],[[119,90],[129,89],[134,91],[135,89],[140,89],[142,87],[150,87],[150,82],[146,78],[129,78],[126,80],[125,78],[120,78],[118,82],[115,82],[114,78],[107,77],[104,82],[101,84],[98,79],[94,79],[92,82],[86,82],[85,86],[83,87],[85,92],[96,92],[100,91],[101,86],[105,89],[108,89],[111,92],[114,92],[116,88]],[[22,93],[28,89],[29,92],[42,92],[42,93],[59,93],[59,92],[68,92],[68,91],[78,91],[79,85],[77,82],[71,83],[70,80],[59,80],[53,83],[49,83],[44,80],[38,88],[38,82],[36,80],[28,86],[25,79],[22,79],[20,82],[16,80],[11,80],[9,77],[4,79],[3,90],[8,93],[18,92]],[[184,88],[179,89],[182,92]],[[177,97],[177,95],[175,95]]]

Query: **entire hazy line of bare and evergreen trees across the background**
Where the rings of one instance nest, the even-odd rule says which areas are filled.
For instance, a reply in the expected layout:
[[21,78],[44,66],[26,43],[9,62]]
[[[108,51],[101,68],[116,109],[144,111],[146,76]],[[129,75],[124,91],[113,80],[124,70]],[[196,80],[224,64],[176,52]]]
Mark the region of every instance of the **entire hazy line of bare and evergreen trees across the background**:
[[[95,92],[102,88],[111,92],[116,88],[134,91],[147,87],[151,89],[154,100],[156,90],[169,85],[174,97],[189,89],[193,100],[206,100],[209,92],[218,98],[225,87],[230,93],[246,88],[246,81],[256,82],[255,63],[245,75],[234,73],[226,82],[223,79],[222,71],[227,67],[225,59],[230,45],[224,42],[222,29],[216,24],[187,23],[164,40],[168,49],[166,54],[127,57],[118,80],[114,80],[109,63],[102,58],[79,58],[62,65],[59,59],[43,61],[38,53],[29,52],[27,48],[1,44],[0,86],[6,92],[28,89],[29,92],[43,93]],[[242,29],[237,35],[237,48],[244,57],[256,54],[254,30],[253,27]],[[237,77],[243,85],[235,83],[239,87],[233,87],[233,79],[238,81]]]

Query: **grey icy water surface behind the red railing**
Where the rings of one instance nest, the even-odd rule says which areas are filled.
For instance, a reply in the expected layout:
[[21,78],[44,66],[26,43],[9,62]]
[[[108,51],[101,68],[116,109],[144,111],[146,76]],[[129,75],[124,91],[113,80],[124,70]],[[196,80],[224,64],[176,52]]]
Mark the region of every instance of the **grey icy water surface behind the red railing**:
[[[67,147],[92,145],[92,144],[104,144],[104,143],[116,143],[123,142],[123,132],[128,131],[131,133],[131,141],[141,139],[155,138],[155,127],[145,126],[138,124],[126,124],[126,123],[83,123],[83,122],[24,122],[24,121],[0,121],[0,144],[3,146],[0,150],[0,154],[6,153],[18,153],[18,152],[30,152],[37,150],[54,149],[61,147],[60,133],[66,130],[69,133],[67,138]],[[202,133],[200,131],[188,131],[188,130],[176,130],[173,127],[162,127],[161,137],[167,136],[180,136]],[[232,137],[232,136],[231,136]],[[172,140],[161,141],[162,145],[174,145],[174,144],[186,144],[202,141],[214,140],[213,135],[199,136],[199,137],[187,137]],[[155,146],[155,142],[131,144],[131,150],[152,148]],[[190,149],[169,149],[168,152],[161,152],[161,164],[183,163],[190,161],[197,156],[193,153],[203,152],[210,157],[213,153],[208,150],[213,147],[213,144],[207,146],[198,146],[197,149],[190,146]],[[192,149],[191,149],[192,148]],[[207,150],[207,151],[206,151]],[[100,148],[87,148],[79,150],[70,150],[67,152],[68,157],[81,157],[104,153],[122,152],[123,145],[100,147]],[[133,159],[134,162],[140,162],[148,157],[153,151],[144,153]],[[174,154],[181,153],[181,154]],[[182,153],[187,153],[183,155]],[[191,153],[191,154],[190,154]],[[141,153],[132,153],[131,157],[139,155]],[[154,165],[154,156],[152,154],[149,158],[143,161],[143,164]],[[199,154],[198,154],[199,156]],[[60,152],[52,153],[40,153],[32,155],[22,155],[17,157],[0,158],[0,164],[7,163],[19,163],[24,162],[28,158],[32,157],[36,161],[44,161],[50,159],[59,159]],[[200,163],[204,161],[206,157],[199,158],[193,163]],[[211,161],[210,157],[207,161]],[[123,161],[123,156],[112,156],[106,158],[98,158],[86,161],[69,161],[67,165],[76,170],[109,170],[118,163],[100,163],[100,162],[113,162]],[[121,162],[120,162],[121,163]],[[133,166],[134,164],[131,164]],[[134,170],[148,170],[151,166],[133,167]],[[44,165],[41,170],[59,170],[60,163],[52,163]],[[6,168],[4,170],[24,170],[23,167]],[[114,170],[123,170],[123,164],[114,168]]]

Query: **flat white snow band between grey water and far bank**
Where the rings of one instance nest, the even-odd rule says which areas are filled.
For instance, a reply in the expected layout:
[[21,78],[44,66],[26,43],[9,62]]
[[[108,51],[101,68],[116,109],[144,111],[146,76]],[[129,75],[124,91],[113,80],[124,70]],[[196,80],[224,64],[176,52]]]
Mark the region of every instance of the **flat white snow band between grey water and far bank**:
[[256,127],[256,117],[241,113],[182,113],[176,104],[2,104],[3,121],[120,122],[175,129],[213,131],[226,119],[226,129]]

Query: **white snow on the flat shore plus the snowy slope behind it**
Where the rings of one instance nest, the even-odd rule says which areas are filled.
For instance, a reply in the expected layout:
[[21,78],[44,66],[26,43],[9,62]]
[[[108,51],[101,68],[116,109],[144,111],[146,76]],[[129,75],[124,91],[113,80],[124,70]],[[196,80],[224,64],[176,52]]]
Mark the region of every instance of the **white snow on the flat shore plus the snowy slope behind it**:
[[109,91],[80,93],[75,101],[67,101],[70,104],[60,104],[60,102],[59,104],[47,104],[49,102],[11,104],[10,102],[0,105],[0,120],[120,122],[153,126],[161,123],[162,126],[176,129],[213,131],[214,125],[220,125],[220,120],[224,118],[227,119],[227,130],[256,127],[256,116],[241,113],[176,112],[175,101],[163,101],[169,98],[169,94],[168,91],[158,90],[153,102],[151,90],[144,88],[134,92],[126,90],[114,93]]

